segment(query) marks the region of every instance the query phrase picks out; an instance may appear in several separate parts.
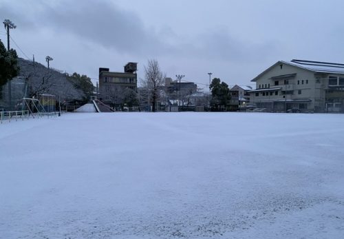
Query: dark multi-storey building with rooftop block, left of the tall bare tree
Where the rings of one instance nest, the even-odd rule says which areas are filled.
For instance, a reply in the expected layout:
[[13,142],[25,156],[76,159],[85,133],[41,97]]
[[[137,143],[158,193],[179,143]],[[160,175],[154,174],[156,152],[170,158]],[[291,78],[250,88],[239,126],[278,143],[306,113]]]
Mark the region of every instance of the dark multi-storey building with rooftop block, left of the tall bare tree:
[[125,72],[110,72],[109,68],[99,68],[99,92],[101,101],[109,105],[120,105],[125,99],[127,90],[136,92],[138,76],[137,63],[125,65]]

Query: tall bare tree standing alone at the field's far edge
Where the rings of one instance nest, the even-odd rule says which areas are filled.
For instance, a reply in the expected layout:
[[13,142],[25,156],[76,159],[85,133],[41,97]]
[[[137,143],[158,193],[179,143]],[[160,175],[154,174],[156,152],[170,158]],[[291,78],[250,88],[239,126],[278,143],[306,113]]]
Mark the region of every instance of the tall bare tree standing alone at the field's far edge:
[[158,61],[149,60],[148,65],[144,66],[144,82],[143,86],[147,87],[151,96],[152,111],[156,111],[156,104],[160,98],[160,91],[164,85],[165,76],[160,70]]

